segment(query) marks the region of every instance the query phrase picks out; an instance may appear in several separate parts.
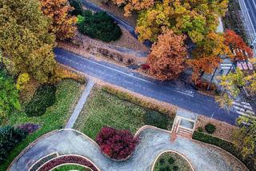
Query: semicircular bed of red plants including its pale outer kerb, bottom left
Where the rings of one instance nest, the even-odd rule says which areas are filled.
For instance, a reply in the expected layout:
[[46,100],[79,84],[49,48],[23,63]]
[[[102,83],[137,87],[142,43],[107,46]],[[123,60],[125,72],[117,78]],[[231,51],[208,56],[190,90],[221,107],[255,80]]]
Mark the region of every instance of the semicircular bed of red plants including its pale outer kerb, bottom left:
[[[52,164],[53,162],[55,162],[54,165]],[[41,165],[38,168],[38,171],[53,170],[59,167],[60,165],[68,165],[68,164],[82,165],[92,169],[93,171],[100,171],[100,169],[98,169],[98,167],[94,165],[94,163],[90,161],[88,158],[77,155],[77,154],[66,154],[59,157],[55,157],[50,161],[46,161],[45,164]]]

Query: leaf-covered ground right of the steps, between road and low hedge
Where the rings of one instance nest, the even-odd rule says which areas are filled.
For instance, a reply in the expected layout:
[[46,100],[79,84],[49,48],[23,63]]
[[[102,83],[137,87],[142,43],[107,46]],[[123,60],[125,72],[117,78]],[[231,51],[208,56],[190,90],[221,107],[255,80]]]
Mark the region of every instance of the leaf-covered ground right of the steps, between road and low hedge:
[[[237,126],[230,125],[224,121],[218,121],[216,119],[202,116],[202,115],[198,115],[198,121],[196,122],[195,130],[198,130],[198,127],[202,127],[202,129],[204,129],[205,125],[208,123],[211,123],[216,127],[216,130],[212,135],[214,137],[218,137],[226,141],[232,141],[232,136],[234,134],[234,131],[238,130]],[[205,129],[204,129],[204,132],[205,132]]]

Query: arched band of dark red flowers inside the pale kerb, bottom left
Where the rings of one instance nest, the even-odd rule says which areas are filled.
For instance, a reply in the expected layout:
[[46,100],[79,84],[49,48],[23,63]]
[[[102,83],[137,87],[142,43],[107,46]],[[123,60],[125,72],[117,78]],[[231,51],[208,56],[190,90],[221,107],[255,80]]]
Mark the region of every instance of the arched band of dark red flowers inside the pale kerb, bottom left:
[[38,171],[46,171],[46,170],[54,169],[58,165],[62,165],[65,163],[84,165],[84,166],[92,169],[93,171],[98,171],[98,169],[86,158],[79,157],[79,156],[73,156],[73,155],[61,156],[58,158],[54,158],[53,160],[48,161],[48,162],[46,162],[46,164],[42,165],[42,167],[40,169],[38,169]]

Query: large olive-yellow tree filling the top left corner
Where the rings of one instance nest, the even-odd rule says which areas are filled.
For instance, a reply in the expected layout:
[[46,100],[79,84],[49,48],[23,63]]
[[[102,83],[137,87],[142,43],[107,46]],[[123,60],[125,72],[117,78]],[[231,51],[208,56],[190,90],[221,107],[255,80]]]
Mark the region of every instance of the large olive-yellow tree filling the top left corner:
[[15,74],[28,73],[41,83],[54,75],[54,34],[38,0],[0,1],[0,49]]

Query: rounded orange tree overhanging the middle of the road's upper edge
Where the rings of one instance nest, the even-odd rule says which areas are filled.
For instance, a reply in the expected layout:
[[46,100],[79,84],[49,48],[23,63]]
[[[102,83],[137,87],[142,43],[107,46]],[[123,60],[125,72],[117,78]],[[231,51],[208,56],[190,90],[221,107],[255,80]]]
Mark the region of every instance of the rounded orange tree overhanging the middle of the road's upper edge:
[[187,56],[185,38],[184,35],[174,34],[172,30],[163,30],[147,59],[150,74],[159,80],[178,78],[185,69]]

